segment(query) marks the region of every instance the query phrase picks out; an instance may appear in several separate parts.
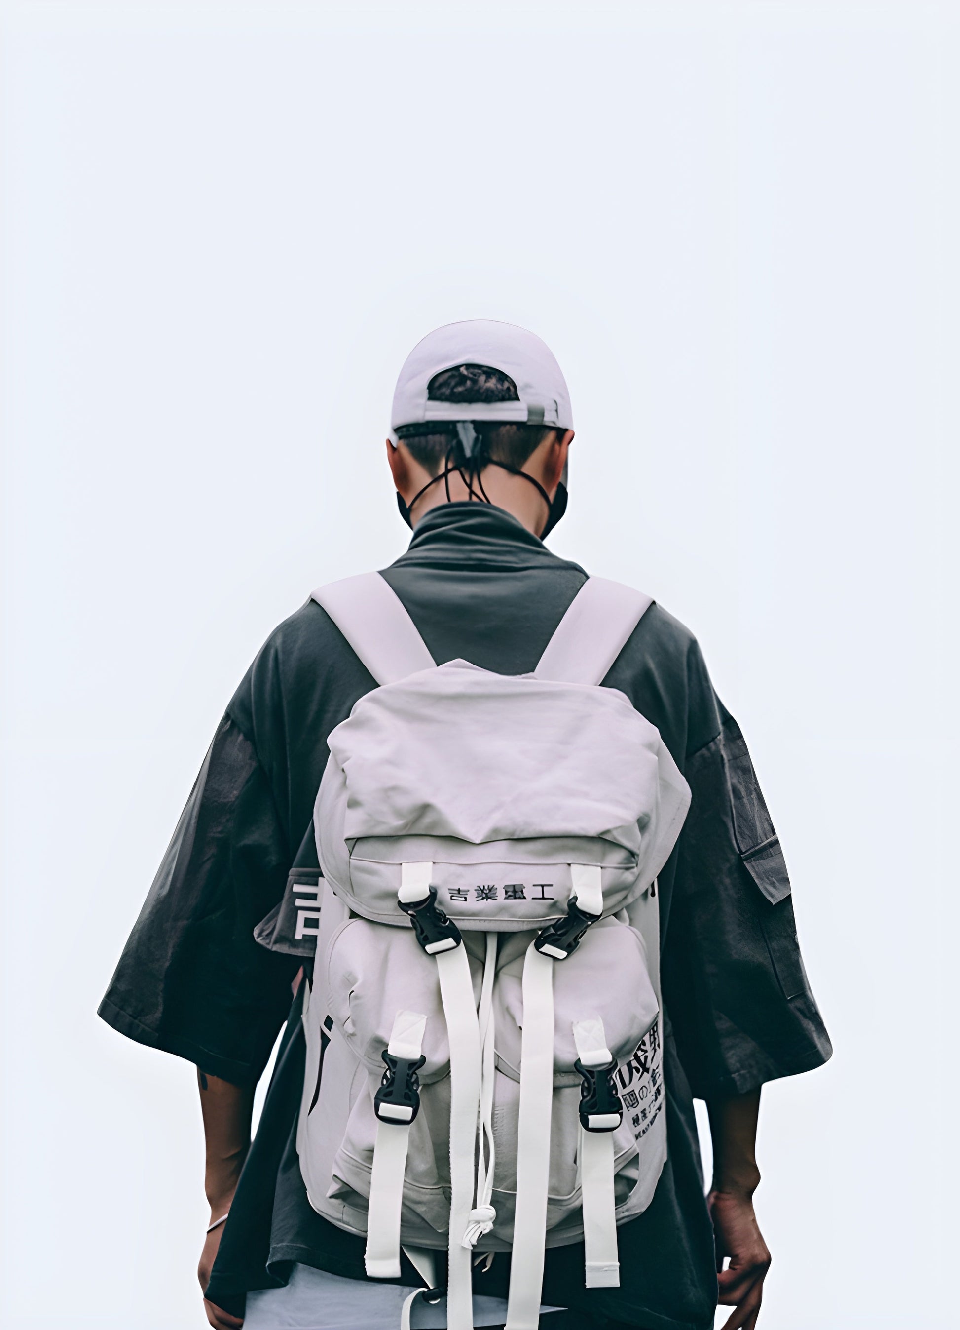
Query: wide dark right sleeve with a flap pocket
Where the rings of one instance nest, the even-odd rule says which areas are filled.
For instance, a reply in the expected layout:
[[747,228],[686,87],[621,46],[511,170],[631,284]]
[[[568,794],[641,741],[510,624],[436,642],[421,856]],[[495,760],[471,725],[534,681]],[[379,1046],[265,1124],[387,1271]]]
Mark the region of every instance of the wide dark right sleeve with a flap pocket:
[[745,1093],[831,1053],[790,879],[739,726],[686,761],[690,813],[663,943],[663,996],[694,1095]]

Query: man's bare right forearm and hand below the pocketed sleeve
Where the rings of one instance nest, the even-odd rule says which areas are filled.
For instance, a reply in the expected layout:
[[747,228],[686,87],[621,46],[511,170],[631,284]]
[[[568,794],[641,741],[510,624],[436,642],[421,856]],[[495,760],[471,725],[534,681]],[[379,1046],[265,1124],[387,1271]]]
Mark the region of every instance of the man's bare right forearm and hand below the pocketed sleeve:
[[[707,1205],[717,1244],[719,1301],[737,1307],[723,1330],[754,1330],[763,1298],[770,1252],[757,1226],[753,1196],[757,1168],[759,1089],[707,1101],[713,1137],[713,1182]],[[723,1269],[730,1257],[729,1269]]]

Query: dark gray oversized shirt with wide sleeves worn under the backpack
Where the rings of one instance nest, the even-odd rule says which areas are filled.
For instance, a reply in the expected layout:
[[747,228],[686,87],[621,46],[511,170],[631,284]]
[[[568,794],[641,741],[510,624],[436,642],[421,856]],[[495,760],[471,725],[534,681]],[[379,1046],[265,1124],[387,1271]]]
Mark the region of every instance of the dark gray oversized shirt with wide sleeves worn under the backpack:
[[[463,657],[505,674],[536,666],[586,577],[503,509],[472,503],[429,512],[383,575],[437,664]],[[706,1330],[717,1282],[691,1096],[807,1071],[830,1041],[779,842],[697,641],[654,604],[604,682],[658,728],[693,794],[660,876],[669,1158],[650,1208],[620,1229],[621,1287],[584,1289],[582,1248],[553,1248],[544,1298],[572,1309],[582,1330]],[[302,960],[259,946],[254,928],[277,911],[291,868],[310,863],[327,734],[374,686],[314,601],[270,636],[217,730],[100,1008],[132,1039],[243,1085],[259,1079],[287,1020],[207,1290],[237,1314],[247,1290],[283,1283],[291,1262],[366,1278],[363,1240],[316,1214],[300,1180],[303,1037],[299,992],[293,1009],[290,996]],[[501,1254],[475,1290],[504,1295],[508,1278]],[[402,1279],[419,1283],[406,1261]]]

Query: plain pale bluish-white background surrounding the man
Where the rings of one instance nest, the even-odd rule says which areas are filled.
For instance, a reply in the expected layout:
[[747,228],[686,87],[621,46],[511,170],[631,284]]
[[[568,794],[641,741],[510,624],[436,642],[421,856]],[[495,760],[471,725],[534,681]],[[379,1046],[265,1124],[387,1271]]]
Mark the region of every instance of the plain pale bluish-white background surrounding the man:
[[552,547],[697,633],[835,1043],[765,1330],[956,1295],[956,4],[8,4],[4,1325],[199,1327],[193,1068],[94,1008],[222,709],[406,545],[396,370],[566,371]]

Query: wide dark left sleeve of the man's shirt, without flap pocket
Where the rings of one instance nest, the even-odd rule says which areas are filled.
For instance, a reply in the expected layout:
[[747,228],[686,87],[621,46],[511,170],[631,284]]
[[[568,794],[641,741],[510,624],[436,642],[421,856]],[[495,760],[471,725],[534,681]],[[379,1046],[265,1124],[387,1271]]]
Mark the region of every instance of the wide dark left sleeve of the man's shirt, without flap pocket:
[[254,940],[290,867],[270,782],[229,716],[120,958],[100,1015],[238,1085],[263,1071],[299,962]]

